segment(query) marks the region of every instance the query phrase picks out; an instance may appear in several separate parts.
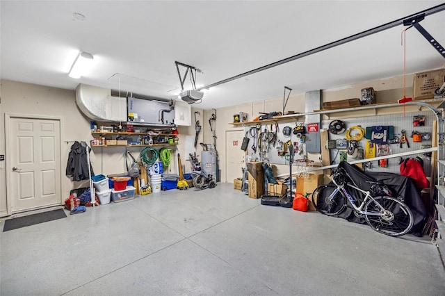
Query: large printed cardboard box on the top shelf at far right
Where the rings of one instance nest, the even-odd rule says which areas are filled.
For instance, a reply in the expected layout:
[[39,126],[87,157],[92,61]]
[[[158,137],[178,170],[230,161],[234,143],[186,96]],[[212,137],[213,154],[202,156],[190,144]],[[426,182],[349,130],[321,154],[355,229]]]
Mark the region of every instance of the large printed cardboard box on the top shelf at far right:
[[414,99],[432,99],[434,91],[440,88],[445,81],[445,69],[436,69],[414,74]]

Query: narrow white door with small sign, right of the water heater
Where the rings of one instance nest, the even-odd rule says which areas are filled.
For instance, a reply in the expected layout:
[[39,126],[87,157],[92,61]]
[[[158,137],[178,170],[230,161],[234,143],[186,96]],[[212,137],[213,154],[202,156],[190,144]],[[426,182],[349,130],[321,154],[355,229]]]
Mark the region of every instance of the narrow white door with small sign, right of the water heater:
[[243,176],[245,151],[241,150],[244,131],[226,131],[225,132],[225,176],[226,181],[233,183],[234,179]]

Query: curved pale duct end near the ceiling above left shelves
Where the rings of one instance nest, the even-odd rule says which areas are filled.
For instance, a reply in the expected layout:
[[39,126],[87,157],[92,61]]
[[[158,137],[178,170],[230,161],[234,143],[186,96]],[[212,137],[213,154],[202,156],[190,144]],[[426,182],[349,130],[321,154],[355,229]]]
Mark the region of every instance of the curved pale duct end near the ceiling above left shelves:
[[112,97],[111,90],[79,84],[76,104],[84,115],[98,121],[127,121],[127,99]]

